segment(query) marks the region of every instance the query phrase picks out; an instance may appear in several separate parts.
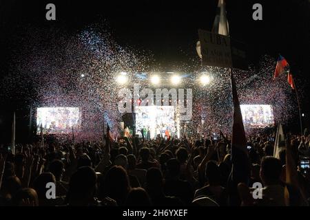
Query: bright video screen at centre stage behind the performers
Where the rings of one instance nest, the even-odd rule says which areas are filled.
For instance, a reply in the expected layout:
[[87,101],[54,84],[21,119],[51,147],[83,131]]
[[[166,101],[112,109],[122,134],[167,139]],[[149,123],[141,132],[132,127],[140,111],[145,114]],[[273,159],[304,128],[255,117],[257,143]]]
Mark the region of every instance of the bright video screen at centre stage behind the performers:
[[136,134],[154,139],[157,135],[176,135],[176,119],[173,106],[137,106]]

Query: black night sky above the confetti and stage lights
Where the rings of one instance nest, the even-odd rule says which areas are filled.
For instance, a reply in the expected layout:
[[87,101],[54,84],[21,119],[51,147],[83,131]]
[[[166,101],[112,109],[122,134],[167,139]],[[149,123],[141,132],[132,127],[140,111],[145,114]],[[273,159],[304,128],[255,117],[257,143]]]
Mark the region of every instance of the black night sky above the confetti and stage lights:
[[[12,54],[10,50],[13,43],[10,39],[20,34],[23,25],[31,24],[47,30],[59,28],[74,33],[100,19],[106,20],[119,44],[148,50],[158,63],[168,67],[186,62],[189,57],[197,56],[195,45],[198,29],[211,30],[217,2],[0,0],[0,73],[6,75]],[[296,77],[301,80],[309,78],[309,0],[226,2],[231,37],[248,45],[251,63],[257,64],[264,54],[276,59],[280,53],[287,58]],[[47,3],[56,5],[56,21],[45,20]],[[251,8],[254,3],[262,4],[262,21],[252,19],[254,10]],[[10,100],[6,100],[8,102]],[[6,110],[2,109],[1,115],[3,111]]]

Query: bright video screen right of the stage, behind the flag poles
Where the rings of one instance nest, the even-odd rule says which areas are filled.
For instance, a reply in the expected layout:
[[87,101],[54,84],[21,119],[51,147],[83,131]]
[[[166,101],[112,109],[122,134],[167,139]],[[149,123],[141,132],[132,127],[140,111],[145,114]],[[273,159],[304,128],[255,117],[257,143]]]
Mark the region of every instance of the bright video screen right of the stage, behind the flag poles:
[[243,124],[246,127],[264,128],[273,125],[270,104],[240,104]]

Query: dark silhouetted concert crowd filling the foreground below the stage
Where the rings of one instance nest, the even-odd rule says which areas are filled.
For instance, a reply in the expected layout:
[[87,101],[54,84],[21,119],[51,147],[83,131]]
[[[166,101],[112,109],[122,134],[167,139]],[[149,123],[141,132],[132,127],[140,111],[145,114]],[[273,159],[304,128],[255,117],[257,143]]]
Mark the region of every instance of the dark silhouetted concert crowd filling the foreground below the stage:
[[299,158],[310,154],[310,135],[288,136],[279,158],[274,140],[248,137],[249,176],[237,183],[223,134],[116,142],[107,133],[103,142],[17,144],[14,155],[1,146],[0,206],[308,206],[310,172]]

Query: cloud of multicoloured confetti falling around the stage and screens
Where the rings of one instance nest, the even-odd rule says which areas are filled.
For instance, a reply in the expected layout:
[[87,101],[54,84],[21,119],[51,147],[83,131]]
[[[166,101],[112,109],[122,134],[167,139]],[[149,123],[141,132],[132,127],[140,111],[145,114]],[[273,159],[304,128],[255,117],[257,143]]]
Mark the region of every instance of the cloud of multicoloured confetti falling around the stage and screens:
[[[45,41],[47,37],[50,41]],[[161,66],[154,63],[152,53],[118,45],[112,34],[99,24],[75,34],[54,30],[47,34],[29,28],[27,36],[17,39],[21,46],[14,51],[10,73],[3,80],[7,85],[5,96],[29,96],[33,107],[79,107],[83,131],[75,137],[81,139],[100,139],[105,123],[118,135],[122,116],[117,109],[121,89],[115,80],[118,72],[128,72],[129,80],[147,85],[145,79],[135,74],[152,72]],[[198,58],[189,63],[177,69],[185,72],[185,88],[194,91],[193,131],[201,129],[204,120],[203,129],[207,133],[230,133],[229,69],[202,68]],[[272,79],[275,66],[275,59],[266,55],[258,67],[250,66],[247,72],[234,69],[238,96],[240,104],[271,104],[275,121],[287,123],[297,114],[296,98],[285,76]],[[206,87],[195,83],[202,71],[211,76],[211,83]]]

